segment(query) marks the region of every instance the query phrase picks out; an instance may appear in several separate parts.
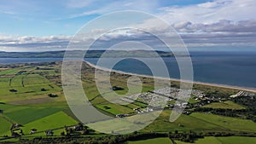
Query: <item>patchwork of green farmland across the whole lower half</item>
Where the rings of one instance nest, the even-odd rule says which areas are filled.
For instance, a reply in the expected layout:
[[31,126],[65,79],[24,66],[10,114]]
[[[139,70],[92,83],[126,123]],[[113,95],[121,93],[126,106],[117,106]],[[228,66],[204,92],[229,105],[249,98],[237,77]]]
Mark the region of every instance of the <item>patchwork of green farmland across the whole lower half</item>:
[[[107,101],[96,89],[93,75],[94,68],[84,64],[82,71],[86,72],[86,75],[82,75],[84,93],[88,96],[90,103],[100,112],[115,117],[123,113],[137,114],[134,109],[148,107],[148,104],[141,98],[128,105],[118,105]],[[61,62],[45,62],[29,65],[17,64],[15,67],[6,66],[0,70],[0,76],[0,138],[11,135],[10,128],[13,124],[20,124],[19,130],[23,133],[22,137],[29,139],[37,136],[47,138],[48,136],[45,136],[45,130],[53,130],[53,136],[56,137],[70,135],[68,126],[79,124],[79,119],[67,107],[67,102],[61,89]],[[116,94],[125,96],[128,91],[126,81],[130,76],[117,72],[112,72],[111,76],[112,86],[119,88],[115,91]],[[140,79],[143,82],[143,92],[154,89],[152,78],[140,77]],[[172,82],[172,84],[177,85],[178,83]],[[163,87],[165,86],[163,85]],[[134,89],[137,88],[134,87]],[[195,84],[194,89],[201,91],[207,89],[207,95],[214,95],[217,98],[218,95],[222,95],[218,100],[226,99],[223,95],[228,97],[229,95],[236,94],[238,91],[200,84]],[[174,105],[175,101],[168,101],[168,104]],[[160,113],[159,118],[156,118],[152,124],[149,124],[143,130],[138,131],[139,134],[166,134],[166,137],[141,141],[126,141],[126,143],[172,143],[167,137],[169,132],[172,134],[188,134],[193,131],[196,134],[204,135],[218,132],[230,135],[240,135],[240,132],[242,132],[244,135],[253,135],[256,132],[256,123],[250,119],[225,117],[223,115],[212,114],[211,112],[194,112],[195,108],[191,106],[201,104],[201,100],[197,100],[196,95],[192,95],[189,99],[189,104],[190,108],[186,109],[186,111],[192,112],[191,114],[182,114],[176,121],[171,123],[169,122],[169,117],[172,113],[172,108],[166,107]],[[210,104],[207,103],[203,107],[239,111],[247,110],[246,106],[242,106],[231,100],[222,102],[214,101]],[[30,135],[31,130],[36,130],[37,132]],[[15,132],[19,131],[17,130]],[[80,133],[87,134],[87,132],[81,132],[80,130]],[[102,136],[100,132],[93,130],[90,130],[90,135],[93,137]],[[195,143],[204,143],[206,141],[207,143],[229,143],[234,141],[238,143],[240,138],[237,136],[206,136],[203,139],[195,141]],[[255,138],[245,137],[245,140],[252,142],[255,141]],[[177,143],[183,142],[177,141]]]

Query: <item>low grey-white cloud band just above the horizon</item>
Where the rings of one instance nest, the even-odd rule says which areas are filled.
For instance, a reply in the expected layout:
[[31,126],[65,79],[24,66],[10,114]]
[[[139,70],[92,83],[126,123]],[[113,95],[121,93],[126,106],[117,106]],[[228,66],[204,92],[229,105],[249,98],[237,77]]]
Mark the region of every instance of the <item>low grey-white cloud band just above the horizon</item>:
[[[152,21],[150,21],[152,24]],[[143,26],[143,25],[141,25]],[[148,25],[145,30],[157,32],[164,35],[166,28],[161,26]],[[208,46],[255,46],[256,42],[256,20],[219,20],[215,23],[202,24],[182,21],[172,24],[181,35],[188,47],[208,47]],[[96,40],[93,37],[102,32],[106,32]],[[49,37],[17,37],[0,36],[0,49],[7,51],[45,51],[66,49],[72,36],[49,36]],[[121,29],[110,31],[107,29],[96,29],[90,33],[83,33],[77,43],[83,41],[91,42],[96,40],[94,48],[108,49],[115,43],[124,41],[139,41],[153,47],[162,48],[162,44],[156,40],[152,34],[137,29]],[[75,43],[75,41],[73,41]],[[77,47],[78,49],[83,49]]]

